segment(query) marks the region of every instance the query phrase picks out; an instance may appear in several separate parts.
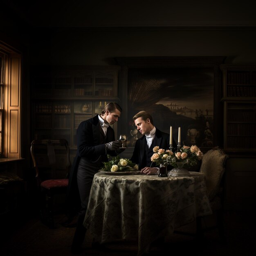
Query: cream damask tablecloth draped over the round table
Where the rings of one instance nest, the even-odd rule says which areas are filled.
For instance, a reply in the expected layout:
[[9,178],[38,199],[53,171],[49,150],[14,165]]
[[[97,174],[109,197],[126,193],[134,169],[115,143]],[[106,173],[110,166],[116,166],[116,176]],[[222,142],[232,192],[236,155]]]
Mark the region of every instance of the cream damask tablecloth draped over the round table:
[[94,240],[138,239],[138,256],[173,230],[212,213],[205,177],[94,175],[84,226]]

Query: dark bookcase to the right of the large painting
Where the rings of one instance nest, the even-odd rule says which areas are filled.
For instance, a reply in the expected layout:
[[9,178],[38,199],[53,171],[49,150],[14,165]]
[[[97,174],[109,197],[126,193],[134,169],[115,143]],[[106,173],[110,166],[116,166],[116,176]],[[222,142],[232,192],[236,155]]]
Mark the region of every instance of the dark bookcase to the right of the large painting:
[[256,65],[220,65],[224,150],[256,152]]

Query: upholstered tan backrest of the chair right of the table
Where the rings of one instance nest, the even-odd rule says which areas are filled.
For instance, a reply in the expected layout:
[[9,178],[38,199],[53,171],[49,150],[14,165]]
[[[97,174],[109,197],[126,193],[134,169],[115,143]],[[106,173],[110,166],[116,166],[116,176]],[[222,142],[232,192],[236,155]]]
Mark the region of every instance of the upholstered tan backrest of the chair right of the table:
[[220,191],[227,157],[228,155],[222,149],[215,147],[207,151],[202,158],[200,173],[204,173],[205,175],[210,201]]

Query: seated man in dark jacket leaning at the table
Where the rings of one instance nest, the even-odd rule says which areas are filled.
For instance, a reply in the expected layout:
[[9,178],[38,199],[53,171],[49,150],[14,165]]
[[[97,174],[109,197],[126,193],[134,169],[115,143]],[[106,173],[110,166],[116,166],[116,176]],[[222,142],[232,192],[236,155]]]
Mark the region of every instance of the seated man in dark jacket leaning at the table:
[[[139,164],[141,174],[156,174],[159,168],[155,167],[155,163],[152,164],[150,159],[154,153],[153,148],[159,146],[159,148],[168,149],[170,146],[170,135],[158,130],[154,126],[151,115],[146,111],[137,113],[133,117],[133,120],[135,126],[137,126],[137,130],[139,130],[143,136],[136,141],[131,161]],[[173,144],[173,147],[175,148],[177,145]]]

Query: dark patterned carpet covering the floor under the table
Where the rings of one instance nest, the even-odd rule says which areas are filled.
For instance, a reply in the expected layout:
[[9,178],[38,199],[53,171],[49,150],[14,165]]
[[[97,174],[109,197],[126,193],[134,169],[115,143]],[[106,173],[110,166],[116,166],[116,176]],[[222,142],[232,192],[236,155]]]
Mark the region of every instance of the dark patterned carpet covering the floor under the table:
[[[219,241],[218,231],[204,233],[204,239],[196,240],[193,236],[174,234],[152,245],[148,256],[185,255],[197,256],[255,256],[256,234],[255,216],[253,213],[225,213],[225,234],[227,243]],[[14,227],[6,229],[1,239],[1,256],[71,256],[70,246],[75,227],[63,227],[63,214],[56,216],[56,228],[49,229],[38,218],[19,220]],[[75,222],[75,220],[74,220]],[[194,231],[194,223],[184,227],[183,231]],[[1,230],[2,233],[2,230]],[[3,234],[3,233],[2,233]],[[86,235],[83,245],[84,256],[136,256],[136,241],[115,241],[108,243],[105,248],[92,248],[90,234]]]

